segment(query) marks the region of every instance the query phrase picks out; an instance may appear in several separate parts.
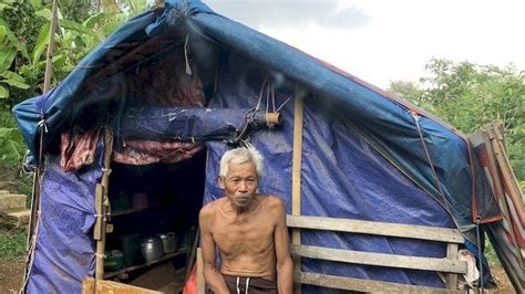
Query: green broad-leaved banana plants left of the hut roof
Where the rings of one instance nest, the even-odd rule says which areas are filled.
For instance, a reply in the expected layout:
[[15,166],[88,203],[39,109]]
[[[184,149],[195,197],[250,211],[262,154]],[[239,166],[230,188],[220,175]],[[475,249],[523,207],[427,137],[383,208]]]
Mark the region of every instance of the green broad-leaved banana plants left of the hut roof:
[[[146,0],[102,1],[95,11],[91,0],[59,0],[52,84],[74,66],[124,21],[146,8]],[[18,165],[24,146],[10,109],[42,94],[49,45],[51,0],[0,0],[0,159]]]

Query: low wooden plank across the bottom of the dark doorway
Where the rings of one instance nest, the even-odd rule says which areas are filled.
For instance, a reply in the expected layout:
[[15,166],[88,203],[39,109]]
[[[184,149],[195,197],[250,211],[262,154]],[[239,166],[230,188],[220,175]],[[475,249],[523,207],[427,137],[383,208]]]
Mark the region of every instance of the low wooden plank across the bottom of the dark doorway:
[[112,294],[161,294],[162,292],[126,285],[112,281],[96,280],[93,277],[84,277],[82,281],[82,294],[92,293],[112,293]]

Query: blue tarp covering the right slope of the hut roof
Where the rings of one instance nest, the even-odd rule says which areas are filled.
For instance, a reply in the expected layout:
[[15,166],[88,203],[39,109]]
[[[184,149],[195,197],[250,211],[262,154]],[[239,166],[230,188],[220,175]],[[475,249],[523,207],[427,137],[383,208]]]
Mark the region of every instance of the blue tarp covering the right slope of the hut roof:
[[[350,80],[285,43],[226,18],[197,13],[193,19],[198,24],[199,33],[217,43],[235,44],[239,54],[299,82],[333,104],[336,112],[342,108],[344,116],[351,117],[362,128],[371,144],[437,201],[450,207],[462,230],[472,229],[471,197],[475,191],[469,146],[462,135],[424,114],[416,114],[422,129],[420,135],[411,114],[414,109],[408,109],[384,93]],[[431,162],[424,147],[418,143],[420,137],[426,144],[437,179],[429,168]],[[497,211],[478,213],[492,218]]]

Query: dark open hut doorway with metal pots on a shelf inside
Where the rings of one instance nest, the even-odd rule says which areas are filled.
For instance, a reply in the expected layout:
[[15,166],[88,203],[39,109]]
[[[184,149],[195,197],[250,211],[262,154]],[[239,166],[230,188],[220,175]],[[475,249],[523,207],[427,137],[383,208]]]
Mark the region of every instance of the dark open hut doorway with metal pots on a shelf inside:
[[195,256],[205,160],[200,150],[176,164],[112,162],[105,281],[182,288]]

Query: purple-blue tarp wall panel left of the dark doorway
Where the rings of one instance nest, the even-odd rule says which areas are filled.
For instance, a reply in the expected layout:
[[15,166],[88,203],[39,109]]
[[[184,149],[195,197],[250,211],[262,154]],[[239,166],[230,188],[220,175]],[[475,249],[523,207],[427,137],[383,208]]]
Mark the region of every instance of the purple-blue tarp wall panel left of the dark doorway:
[[102,177],[101,154],[99,144],[97,160],[74,174],[62,170],[60,156],[47,158],[28,293],[80,293],[82,280],[93,276],[94,191]]

